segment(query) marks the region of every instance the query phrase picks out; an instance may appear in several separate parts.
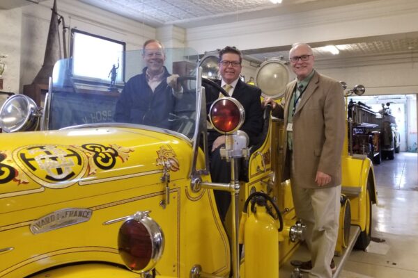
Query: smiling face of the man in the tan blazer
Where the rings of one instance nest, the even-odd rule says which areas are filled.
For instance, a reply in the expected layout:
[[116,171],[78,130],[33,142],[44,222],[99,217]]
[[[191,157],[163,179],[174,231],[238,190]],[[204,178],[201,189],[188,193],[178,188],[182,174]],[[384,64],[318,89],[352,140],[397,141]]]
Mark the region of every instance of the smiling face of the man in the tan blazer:
[[309,55],[309,59],[306,61],[302,61],[302,59],[298,59],[296,62],[291,61],[292,70],[300,81],[305,79],[312,70],[314,70],[314,55],[312,54],[312,49],[306,44],[298,44],[289,52],[289,58],[304,55]]

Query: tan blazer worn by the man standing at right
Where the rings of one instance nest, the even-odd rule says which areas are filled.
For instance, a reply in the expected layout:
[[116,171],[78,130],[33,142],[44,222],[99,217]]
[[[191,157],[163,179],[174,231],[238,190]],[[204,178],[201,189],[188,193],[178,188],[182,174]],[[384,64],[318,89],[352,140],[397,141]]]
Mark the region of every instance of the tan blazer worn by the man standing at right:
[[[296,81],[288,83],[284,96],[285,132],[288,108],[295,91]],[[293,186],[318,188],[316,172],[332,177],[325,187],[341,184],[341,152],[346,129],[346,112],[341,84],[315,72],[293,115]],[[284,173],[282,180],[290,179],[291,161],[288,161],[287,136],[284,136]],[[287,155],[286,155],[287,154]],[[287,166],[286,166],[287,165]]]

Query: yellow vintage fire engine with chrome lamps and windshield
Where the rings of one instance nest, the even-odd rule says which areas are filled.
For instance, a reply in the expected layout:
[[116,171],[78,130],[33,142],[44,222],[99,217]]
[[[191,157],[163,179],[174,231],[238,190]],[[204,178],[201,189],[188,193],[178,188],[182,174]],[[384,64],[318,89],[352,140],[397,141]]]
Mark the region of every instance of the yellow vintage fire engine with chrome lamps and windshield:
[[[166,66],[183,75],[171,129],[114,122],[118,88],[79,85],[71,60],[56,63],[44,108],[24,95],[3,104],[0,277],[301,277],[288,263],[304,225],[290,182],[279,182],[283,123],[267,110],[261,141],[247,147],[235,99],[206,111],[203,85],[214,84],[196,57],[167,49]],[[127,78],[143,66],[127,63]],[[208,117],[226,135],[228,184],[210,180]],[[341,160],[335,277],[354,245],[369,244],[377,201],[369,158]],[[231,193],[225,225],[214,189]]]

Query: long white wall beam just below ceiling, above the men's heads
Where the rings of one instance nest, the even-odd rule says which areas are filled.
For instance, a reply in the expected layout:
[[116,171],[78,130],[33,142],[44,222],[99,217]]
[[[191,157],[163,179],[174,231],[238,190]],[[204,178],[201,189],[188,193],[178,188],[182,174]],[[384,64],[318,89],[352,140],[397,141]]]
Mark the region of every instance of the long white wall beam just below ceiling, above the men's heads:
[[380,0],[187,29],[187,44],[203,53],[235,45],[241,50],[288,47],[418,31],[418,1]]

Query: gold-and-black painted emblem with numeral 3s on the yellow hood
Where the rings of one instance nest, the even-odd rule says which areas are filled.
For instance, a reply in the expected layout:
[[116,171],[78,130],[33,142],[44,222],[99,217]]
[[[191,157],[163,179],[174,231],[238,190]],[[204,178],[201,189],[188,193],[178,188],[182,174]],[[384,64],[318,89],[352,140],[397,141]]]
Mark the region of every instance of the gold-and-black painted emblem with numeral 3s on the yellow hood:
[[47,188],[66,188],[98,170],[109,170],[117,158],[127,161],[132,149],[100,144],[29,145],[16,149],[13,158],[0,152],[0,184],[28,183],[27,177]]

